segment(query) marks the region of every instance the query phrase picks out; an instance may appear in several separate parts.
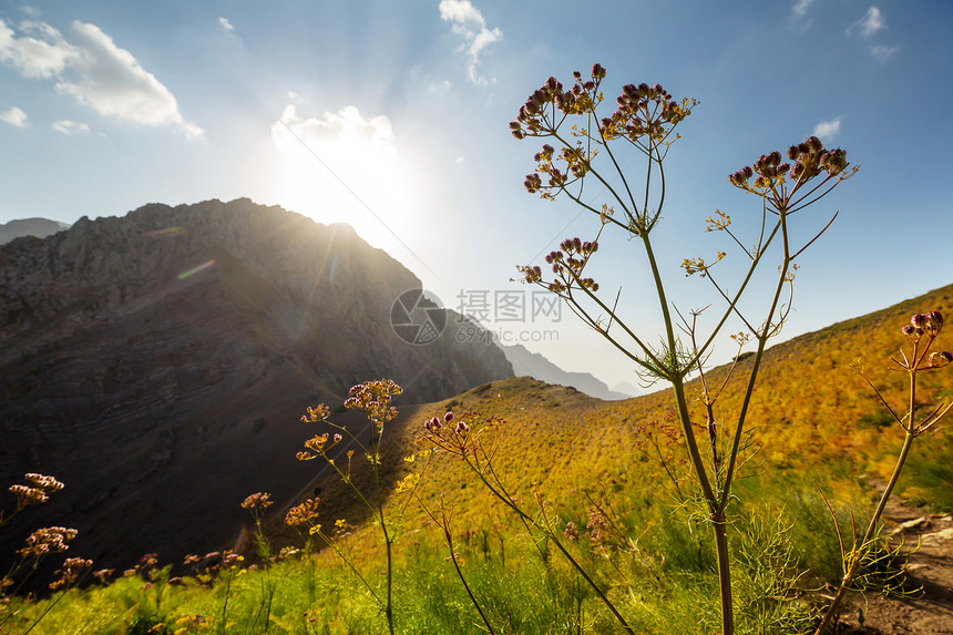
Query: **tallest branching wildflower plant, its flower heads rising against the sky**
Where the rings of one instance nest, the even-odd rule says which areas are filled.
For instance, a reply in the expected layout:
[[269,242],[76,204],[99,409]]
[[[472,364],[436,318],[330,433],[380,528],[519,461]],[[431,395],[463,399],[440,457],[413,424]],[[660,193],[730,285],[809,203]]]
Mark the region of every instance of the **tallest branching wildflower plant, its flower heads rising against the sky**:
[[[767,341],[779,332],[791,308],[790,296],[785,297],[785,293],[793,283],[796,260],[830,225],[820,225],[812,238],[796,244],[791,234],[792,217],[827,196],[853,172],[847,171],[843,150],[827,150],[820,140],[811,136],[788,148],[788,161],[775,151],[729,176],[735,187],[759,199],[760,219],[750,238],[737,236],[731,228],[730,216],[724,212],[716,211],[707,219],[706,231],[725,232],[747,260],[734,290],[715,275],[715,265],[726,257],[725,252],[718,250],[710,262],[700,257],[684,260],[686,275],[697,274],[707,278],[724,303],[709,331],[703,334],[698,325],[703,310],[693,310],[690,320],[677,309],[673,314],[652,240],[665,203],[663,163],[672,144],[678,140],[676,126],[691,114],[697,102],[687,98],[673,100],[660,84],[627,84],[616,99],[615,112],[603,116],[598,110],[603,102],[601,86],[605,76],[606,70],[595,64],[587,79],[583,79],[580,72],[573,73],[573,85],[565,90],[555,78],[550,78],[530,95],[520,107],[516,120],[510,124],[510,131],[518,140],[547,140],[535,154],[536,170],[526,176],[526,191],[546,199],[566,196],[600,219],[594,239],[567,238],[560,249],[546,256],[552,276],[544,275],[542,267],[536,265],[519,269],[526,283],[546,288],[562,298],[587,326],[631,359],[645,380],[662,380],[672,386],[679,428],[698,487],[697,495],[714,533],[721,632],[728,635],[735,632],[728,505],[732,499],[734,481],[745,460],[748,408]],[[625,153],[641,155],[645,160],[645,170],[641,174],[625,171]],[[605,193],[602,204],[590,203],[592,192],[583,196],[584,186],[590,182]],[[653,193],[653,188],[658,192]],[[654,336],[636,334],[616,311],[618,295],[613,294],[611,299],[601,297],[600,284],[590,275],[590,263],[600,247],[598,237],[606,227],[621,231],[642,246],[658,300],[660,345],[649,344]],[[742,313],[739,303],[768,254],[775,255],[778,273],[766,308],[755,319]],[[688,406],[687,382],[695,375],[704,380],[705,363],[729,318],[744,328],[734,336],[738,344],[754,341],[756,350],[747,370],[747,380],[741,379],[745,381],[744,399],[734,416],[716,417],[714,403],[720,389],[709,392],[704,385],[706,388],[699,398],[706,407],[705,429],[709,449],[709,460],[706,461],[696,436],[695,417]],[[683,334],[687,338],[683,338]],[[721,448],[724,451],[719,451]],[[625,619],[618,614],[616,616],[627,627]]]

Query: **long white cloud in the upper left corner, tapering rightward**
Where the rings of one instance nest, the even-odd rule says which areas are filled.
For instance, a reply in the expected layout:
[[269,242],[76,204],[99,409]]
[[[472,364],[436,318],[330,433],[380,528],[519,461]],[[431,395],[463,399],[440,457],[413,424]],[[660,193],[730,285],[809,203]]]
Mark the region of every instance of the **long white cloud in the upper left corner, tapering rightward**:
[[18,37],[0,20],[0,61],[24,76],[55,80],[58,91],[103,116],[203,136],[183,119],[172,92],[95,24],[73,22],[71,42],[45,22],[25,21],[19,29]]

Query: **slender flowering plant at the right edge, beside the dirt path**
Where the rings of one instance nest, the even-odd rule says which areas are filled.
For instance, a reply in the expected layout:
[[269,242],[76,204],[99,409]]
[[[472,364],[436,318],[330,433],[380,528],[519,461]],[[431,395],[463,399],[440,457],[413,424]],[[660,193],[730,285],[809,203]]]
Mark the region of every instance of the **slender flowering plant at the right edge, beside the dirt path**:
[[[940,420],[950,412],[951,409],[953,409],[953,401],[945,404],[940,403],[933,408],[926,417],[923,417],[918,421],[918,376],[923,372],[932,372],[941,368],[946,368],[951,362],[953,362],[953,354],[950,351],[932,350],[936,337],[940,335],[940,330],[942,328],[943,315],[939,310],[933,310],[926,314],[915,314],[910,319],[910,324],[904,325],[901,329],[903,335],[906,336],[911,347],[910,357],[908,357],[906,354],[903,352],[903,349],[901,349],[900,359],[891,357],[890,361],[893,362],[893,366],[891,367],[892,370],[905,372],[908,376],[909,392],[906,411],[903,416],[896,414],[896,411],[891,408],[887,398],[884,398],[881,391],[863,375],[863,365],[860,360],[854,365],[854,371],[857,371],[867,385],[870,386],[874,395],[880,399],[880,402],[888,412],[890,412],[893,420],[898,426],[900,426],[900,429],[903,430],[903,445],[900,448],[900,453],[896,457],[893,473],[887,482],[887,487],[883,490],[883,494],[880,496],[880,501],[877,504],[873,516],[870,519],[870,523],[867,526],[863,537],[849,551],[844,549],[843,541],[841,541],[841,556],[843,559],[844,572],[843,577],[841,578],[837,595],[834,595],[833,601],[824,613],[820,626],[818,626],[817,635],[823,635],[828,632],[831,622],[840,612],[841,603],[843,602],[848,591],[864,591],[863,586],[859,586],[857,583],[862,576],[864,569],[869,567],[877,561],[875,554],[882,543],[881,537],[878,535],[880,519],[883,515],[883,510],[887,508],[887,502],[890,499],[890,495],[893,493],[893,489],[896,487],[898,480],[900,480],[903,464],[906,462],[906,457],[910,454],[910,449],[913,447],[913,440],[935,427],[936,423],[939,423]],[[839,528],[838,535],[840,535]]]

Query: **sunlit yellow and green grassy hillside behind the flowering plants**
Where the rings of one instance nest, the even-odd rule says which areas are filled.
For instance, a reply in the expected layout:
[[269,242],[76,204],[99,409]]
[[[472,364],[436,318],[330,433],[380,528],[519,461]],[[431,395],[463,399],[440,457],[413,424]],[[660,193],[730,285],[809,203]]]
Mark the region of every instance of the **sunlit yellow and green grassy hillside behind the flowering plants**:
[[[849,544],[851,518],[863,525],[875,495],[871,483],[892,469],[902,438],[851,366],[862,358],[867,377],[902,411],[904,376],[889,371],[887,361],[904,342],[900,328],[910,316],[931,309],[953,316],[953,286],[767,351],[749,417],[750,460],[729,508],[739,633],[810,631],[816,590],[841,574],[831,514]],[[941,335],[942,347],[953,348],[951,332]],[[719,383],[726,372],[711,371],[709,382]],[[716,416],[727,429],[739,390],[729,381],[718,402]],[[918,401],[924,411],[951,397],[953,372],[923,375]],[[696,424],[704,426],[696,406]],[[488,623],[498,633],[617,632],[606,605],[560,555],[563,546],[636,632],[714,629],[714,549],[680,434],[669,424],[667,391],[604,402],[515,378],[438,403],[398,407],[399,417],[385,428],[377,474],[389,535],[396,536],[396,632],[484,633]],[[479,437],[492,455],[494,471],[484,465],[483,475],[505,483],[526,512],[522,520],[460,457],[424,451],[433,445],[420,439],[423,421],[448,411],[457,413],[454,422],[464,412],[480,412],[464,419],[470,438]],[[322,431],[321,424],[288,424],[300,427],[303,442]],[[918,440],[898,493],[953,510],[951,437],[947,423]],[[330,455],[373,503],[377,480],[361,452],[346,469],[346,451],[353,448],[342,443]],[[285,525],[289,505],[276,504],[264,510],[269,546],[263,550],[259,542],[256,554],[249,540],[244,561],[216,556],[189,566],[175,563],[172,572],[146,563],[107,586],[60,592],[40,603],[13,598],[0,613],[0,633],[25,632],[38,618],[33,633],[386,633],[387,550],[375,505],[363,506],[321,460],[309,464],[318,478],[303,496],[320,498],[312,522],[334,549],[319,549],[317,534]],[[541,533],[533,522],[552,532]],[[254,526],[250,516],[248,525]],[[288,544],[317,553],[285,551],[279,557]],[[247,566],[252,562],[254,569]],[[899,561],[881,564],[888,574]],[[168,583],[168,575],[178,580]]]

